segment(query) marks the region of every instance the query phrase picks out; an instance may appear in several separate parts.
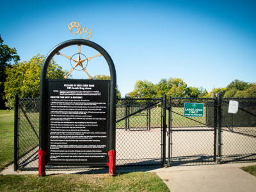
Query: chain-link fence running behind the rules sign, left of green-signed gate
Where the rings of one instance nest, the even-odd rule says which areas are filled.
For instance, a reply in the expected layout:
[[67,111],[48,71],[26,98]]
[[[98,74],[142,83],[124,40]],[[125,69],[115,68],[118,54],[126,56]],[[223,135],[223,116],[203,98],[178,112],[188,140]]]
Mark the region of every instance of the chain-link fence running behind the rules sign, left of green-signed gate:
[[[17,168],[38,169],[39,99],[20,98],[18,103]],[[117,100],[116,165],[161,164],[161,99]],[[81,169],[87,166],[46,166],[53,169]]]

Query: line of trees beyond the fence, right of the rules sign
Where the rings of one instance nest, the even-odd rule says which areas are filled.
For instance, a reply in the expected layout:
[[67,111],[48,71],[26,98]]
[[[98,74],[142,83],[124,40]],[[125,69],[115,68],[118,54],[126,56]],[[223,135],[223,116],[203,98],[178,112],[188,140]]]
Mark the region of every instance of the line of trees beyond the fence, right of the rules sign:
[[161,79],[159,83],[153,84],[147,80],[138,80],[134,85],[134,90],[127,93],[127,98],[161,98],[163,94],[171,97],[194,97],[211,98],[220,93],[221,97],[256,97],[256,84],[247,83],[238,79],[232,81],[225,88],[214,88],[211,92],[200,87],[188,86],[182,79],[170,77]]

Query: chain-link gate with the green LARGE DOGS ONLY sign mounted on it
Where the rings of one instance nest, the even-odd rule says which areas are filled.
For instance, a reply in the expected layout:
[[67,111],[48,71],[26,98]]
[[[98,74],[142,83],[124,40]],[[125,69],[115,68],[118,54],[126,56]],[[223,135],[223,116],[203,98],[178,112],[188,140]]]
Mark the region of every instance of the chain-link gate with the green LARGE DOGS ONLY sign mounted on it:
[[[185,103],[204,104],[204,115],[184,116]],[[168,112],[168,166],[216,161],[216,99],[169,97]]]

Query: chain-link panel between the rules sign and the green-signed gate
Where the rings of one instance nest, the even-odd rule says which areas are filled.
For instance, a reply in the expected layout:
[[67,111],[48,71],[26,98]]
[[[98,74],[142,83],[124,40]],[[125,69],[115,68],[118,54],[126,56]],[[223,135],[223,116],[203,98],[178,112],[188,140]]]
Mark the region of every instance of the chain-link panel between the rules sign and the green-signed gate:
[[163,164],[163,99],[118,99],[116,165]]

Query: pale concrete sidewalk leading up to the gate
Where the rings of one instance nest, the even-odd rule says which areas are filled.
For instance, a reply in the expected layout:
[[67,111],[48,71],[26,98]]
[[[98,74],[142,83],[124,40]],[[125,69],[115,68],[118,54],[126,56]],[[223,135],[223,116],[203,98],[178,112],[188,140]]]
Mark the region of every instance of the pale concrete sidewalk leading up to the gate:
[[173,166],[152,170],[172,192],[181,191],[256,191],[256,177],[244,172],[243,166],[256,163]]

